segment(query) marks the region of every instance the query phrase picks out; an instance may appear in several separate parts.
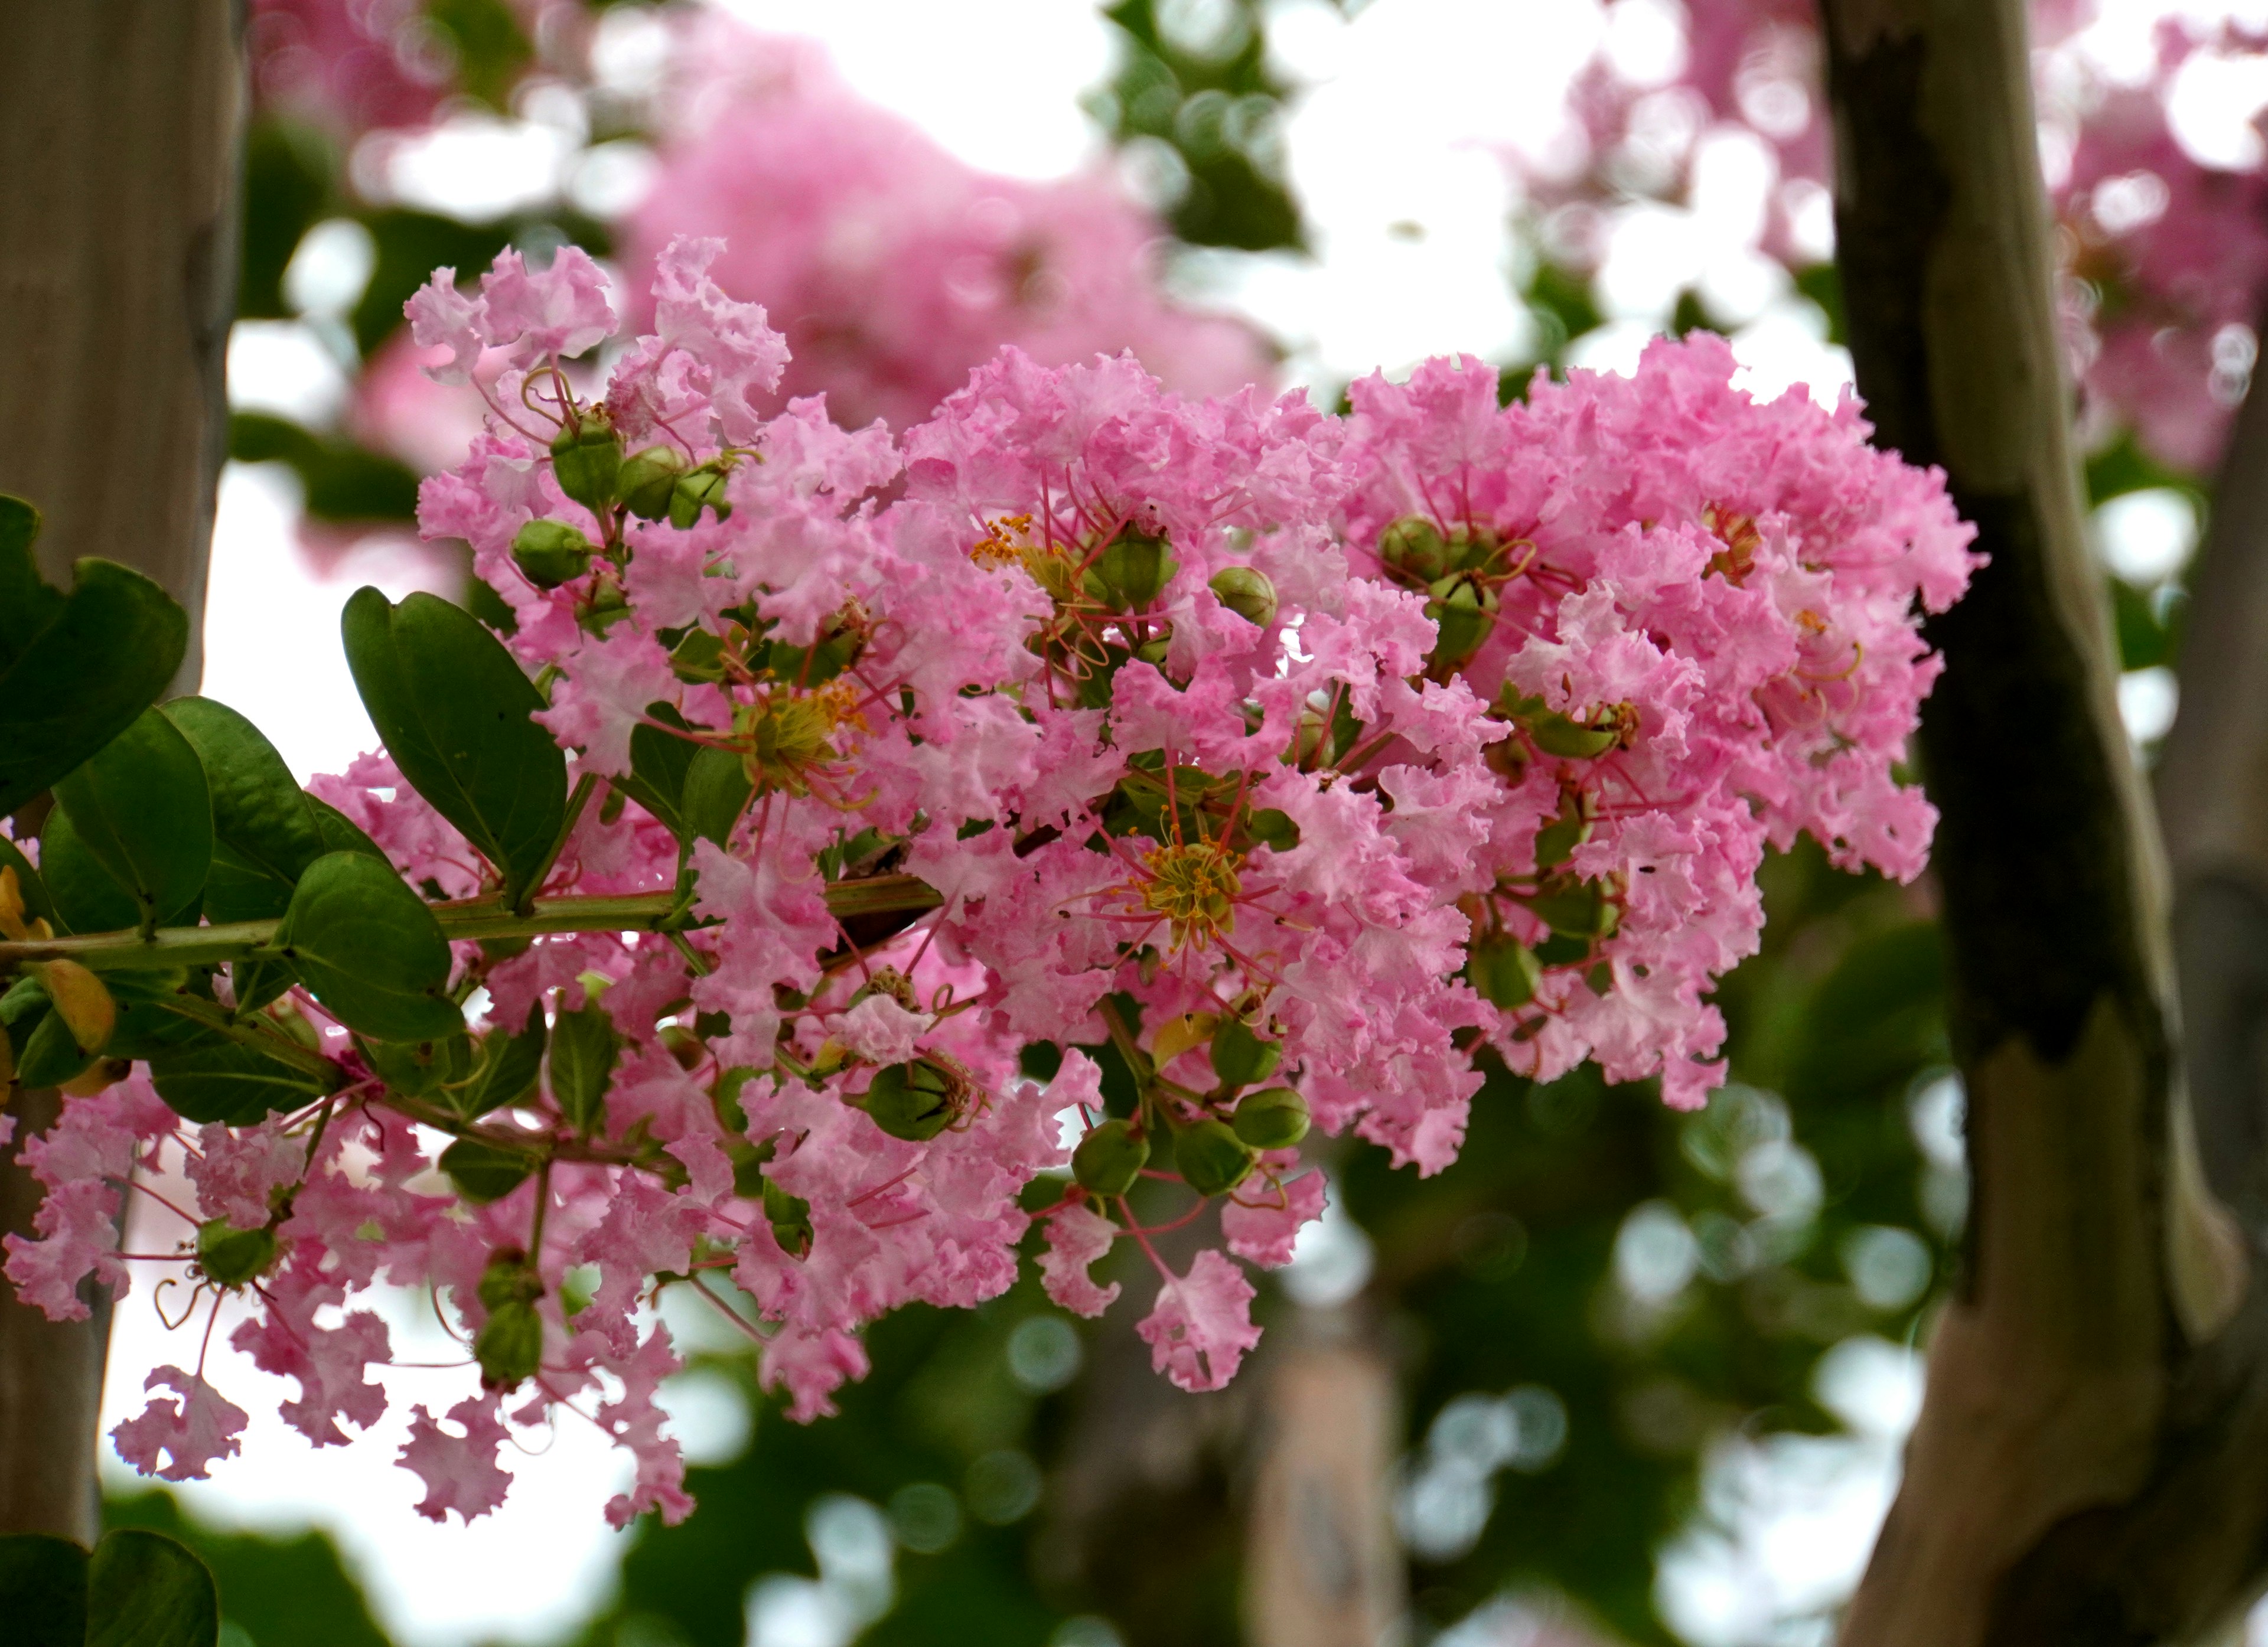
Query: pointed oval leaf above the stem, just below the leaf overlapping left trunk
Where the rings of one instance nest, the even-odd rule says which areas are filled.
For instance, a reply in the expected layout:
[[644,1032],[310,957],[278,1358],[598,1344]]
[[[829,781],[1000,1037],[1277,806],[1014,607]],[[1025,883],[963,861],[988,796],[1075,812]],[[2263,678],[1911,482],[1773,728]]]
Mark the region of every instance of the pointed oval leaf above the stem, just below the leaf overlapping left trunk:
[[54,785],[79,844],[156,926],[204,892],[213,864],[213,796],[204,762],[172,721],[143,710],[127,730]]

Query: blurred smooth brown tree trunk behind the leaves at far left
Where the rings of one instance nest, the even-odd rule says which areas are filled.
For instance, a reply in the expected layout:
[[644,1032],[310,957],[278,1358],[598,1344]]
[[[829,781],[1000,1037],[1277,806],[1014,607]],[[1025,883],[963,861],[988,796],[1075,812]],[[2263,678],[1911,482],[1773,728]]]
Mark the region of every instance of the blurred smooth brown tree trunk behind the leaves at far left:
[[[0,5],[0,490],[45,513],[41,560],[102,556],[197,619],[227,451],[236,311],[240,0]],[[54,1116],[18,1093],[18,1137]],[[0,1162],[0,1227],[39,1184]],[[0,1282],[0,1534],[93,1543],[109,1309],[50,1323]]]

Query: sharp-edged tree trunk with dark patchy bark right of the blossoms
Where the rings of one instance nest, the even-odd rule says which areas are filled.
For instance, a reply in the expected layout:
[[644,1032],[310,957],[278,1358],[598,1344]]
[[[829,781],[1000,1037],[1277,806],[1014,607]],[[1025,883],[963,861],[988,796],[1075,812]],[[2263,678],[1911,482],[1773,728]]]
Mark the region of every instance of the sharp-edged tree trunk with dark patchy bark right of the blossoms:
[[1921,749],[1975,1205],[1844,1640],[2182,1640],[2268,1534],[2268,1293],[2175,1078],[2157,830],[2080,535],[2021,0],[1826,0],[1878,440],[1991,556]]

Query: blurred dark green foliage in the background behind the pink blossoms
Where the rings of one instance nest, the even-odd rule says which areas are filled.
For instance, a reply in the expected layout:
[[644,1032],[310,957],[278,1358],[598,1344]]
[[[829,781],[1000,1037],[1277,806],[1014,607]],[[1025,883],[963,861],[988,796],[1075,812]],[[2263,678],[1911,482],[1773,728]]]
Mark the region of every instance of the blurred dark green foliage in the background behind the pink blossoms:
[[[1293,88],[1268,66],[1261,0],[1204,9],[1195,36],[1166,9],[1107,7],[1123,50],[1089,111],[1188,245],[1302,247],[1277,141]],[[463,93],[510,107],[535,59],[515,16],[499,0],[429,0],[426,16]],[[635,132],[635,109],[594,109],[592,141]],[[606,225],[567,202],[485,222],[370,204],[338,141],[265,111],[247,143],[240,315],[302,315],[293,256],[340,220],[370,243],[370,279],[331,322],[347,358],[386,345],[435,265],[481,268],[506,245],[608,250]],[[1515,284],[1535,327],[1529,358],[1501,363],[1506,399],[1601,324],[1574,261],[1538,254]],[[1801,290],[1833,322],[1833,270]],[[1678,324],[1710,318],[1690,297]],[[415,508],[417,476],[340,429],[238,413],[231,456],[290,465],[322,522]],[[2100,451],[2089,483],[2096,501],[2175,488],[2204,504],[2132,442]],[[2125,667],[2170,662],[2177,585],[2112,588]],[[1134,1268],[1132,1309],[1105,1323],[1070,1320],[1030,1279],[975,1311],[905,1309],[869,1334],[873,1375],[841,1416],[810,1427],[758,1395],[744,1354],[699,1357],[739,1384],[753,1436],[692,1470],[689,1522],[637,1531],[578,1647],[1236,1642],[1254,1407],[1302,1323],[1379,1345],[1395,1370],[1415,1640],[1458,1620],[1474,1622],[1442,1640],[1529,1640],[1481,1633],[1504,1597],[1556,1620],[1556,1640],[1676,1640],[1665,1552],[1730,1536],[1728,1461],[1844,1431],[1839,1348],[1914,1345],[1957,1275],[1960,1089],[1928,882],[1842,876],[1805,846],[1767,864],[1765,896],[1765,948],[1719,991],[1733,1084],[1708,1109],[1674,1114],[1592,1071],[1545,1087],[1497,1071],[1440,1177],[1393,1173],[1377,1150],[1336,1157],[1352,1223],[1322,1261],[1266,1284],[1270,1343],[1222,1395],[1152,1379]],[[211,1561],[229,1647],[386,1642],[320,1534],[213,1531],[163,1493],[116,1500],[111,1520]]]

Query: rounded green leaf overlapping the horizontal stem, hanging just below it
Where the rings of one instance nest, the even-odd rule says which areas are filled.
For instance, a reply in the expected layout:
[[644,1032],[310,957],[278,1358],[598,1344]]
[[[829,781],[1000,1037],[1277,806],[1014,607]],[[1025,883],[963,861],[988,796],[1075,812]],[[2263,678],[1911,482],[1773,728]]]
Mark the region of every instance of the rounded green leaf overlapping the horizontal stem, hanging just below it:
[[349,1030],[440,1041],[465,1028],[449,1000],[449,939],[392,864],[324,853],[290,896],[277,948]]

